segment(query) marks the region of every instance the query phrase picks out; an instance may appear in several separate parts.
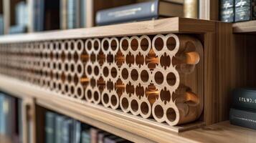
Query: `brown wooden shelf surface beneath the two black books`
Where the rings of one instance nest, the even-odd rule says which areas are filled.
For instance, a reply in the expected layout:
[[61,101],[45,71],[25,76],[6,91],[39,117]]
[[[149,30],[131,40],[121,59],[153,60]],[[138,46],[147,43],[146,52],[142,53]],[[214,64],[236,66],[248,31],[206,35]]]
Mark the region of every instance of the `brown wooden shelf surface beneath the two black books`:
[[234,126],[229,121],[220,122],[211,126],[194,129],[179,134],[181,137],[193,139],[196,142],[245,142],[253,143],[256,132],[253,129]]

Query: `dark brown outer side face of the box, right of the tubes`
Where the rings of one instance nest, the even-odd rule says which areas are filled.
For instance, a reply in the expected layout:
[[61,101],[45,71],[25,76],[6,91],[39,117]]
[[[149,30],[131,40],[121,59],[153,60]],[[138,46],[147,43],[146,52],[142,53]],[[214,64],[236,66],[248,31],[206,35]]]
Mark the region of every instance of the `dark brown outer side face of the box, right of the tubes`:
[[[232,86],[232,26],[227,23],[217,24],[217,122],[229,118]],[[234,63],[233,63],[234,64]]]

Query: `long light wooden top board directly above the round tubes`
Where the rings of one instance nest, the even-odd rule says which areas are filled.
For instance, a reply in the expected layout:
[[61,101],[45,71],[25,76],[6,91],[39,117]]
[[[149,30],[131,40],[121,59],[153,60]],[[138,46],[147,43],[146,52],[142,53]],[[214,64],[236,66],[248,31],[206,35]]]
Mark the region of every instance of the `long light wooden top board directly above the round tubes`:
[[[125,29],[124,29],[125,27]],[[179,17],[159,19],[152,21],[98,26],[87,29],[69,29],[44,31],[32,34],[5,35],[0,37],[0,42],[39,41],[56,39],[93,38],[105,36],[127,36],[138,34],[169,34],[169,33],[205,33],[215,29],[214,21],[184,19]]]

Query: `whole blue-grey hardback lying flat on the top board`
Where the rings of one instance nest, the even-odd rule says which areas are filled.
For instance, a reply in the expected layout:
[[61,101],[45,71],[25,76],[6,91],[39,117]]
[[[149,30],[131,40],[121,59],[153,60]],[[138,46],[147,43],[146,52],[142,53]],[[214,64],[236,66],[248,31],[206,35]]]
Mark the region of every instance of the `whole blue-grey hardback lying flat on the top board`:
[[118,24],[169,16],[183,16],[183,5],[169,1],[148,1],[100,10],[96,14],[96,24]]

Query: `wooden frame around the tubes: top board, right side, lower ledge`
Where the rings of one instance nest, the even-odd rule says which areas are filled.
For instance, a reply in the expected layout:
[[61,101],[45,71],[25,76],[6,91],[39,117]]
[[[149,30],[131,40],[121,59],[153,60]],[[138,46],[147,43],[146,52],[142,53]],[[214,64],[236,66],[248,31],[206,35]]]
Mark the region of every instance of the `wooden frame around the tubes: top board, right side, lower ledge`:
[[[125,30],[123,30],[124,27]],[[219,31],[221,31],[222,34],[219,34]],[[184,138],[177,135],[177,132],[193,130],[205,126],[206,124],[214,124],[215,122],[227,119],[229,110],[229,104],[227,104],[229,102],[229,96],[227,92],[229,89],[222,89],[221,87],[232,86],[229,79],[231,79],[233,75],[230,75],[229,72],[227,72],[227,69],[232,70],[232,68],[235,68],[235,65],[230,66],[231,63],[229,62],[231,61],[229,60],[227,60],[226,63],[209,63],[221,60],[219,57],[224,56],[227,52],[222,51],[222,49],[230,47],[228,45],[231,44],[229,43],[229,38],[232,34],[232,24],[198,19],[169,18],[130,24],[99,26],[88,29],[70,29],[64,31],[45,31],[34,34],[7,35],[2,36],[0,41],[1,43],[6,44],[16,42],[24,43],[29,41],[36,43],[37,41],[47,41],[49,39],[57,41],[62,39],[89,39],[92,37],[103,38],[108,36],[122,37],[141,34],[154,35],[169,33],[192,35],[204,43],[203,79],[204,82],[208,83],[208,86],[202,86],[204,87],[204,112],[196,122],[192,122],[191,124],[170,127],[166,124],[159,124],[131,114],[123,114],[118,110],[83,102],[80,99],[65,97],[64,94],[51,92],[48,89],[42,89],[11,77],[1,76],[1,81],[3,82],[0,83],[0,89],[4,92],[14,94],[17,97],[34,99],[34,104],[52,109],[62,114],[67,114],[70,117],[92,124],[100,129],[105,129],[108,132],[133,142],[169,142],[170,139],[184,141]],[[213,41],[212,39],[219,40]],[[217,45],[218,50],[215,49],[215,44]],[[227,69],[219,68],[216,72],[212,70],[221,66],[226,66]],[[7,88],[14,83],[16,85],[15,89]],[[213,85],[217,86],[213,88]],[[217,94],[222,95],[222,97],[217,97]],[[213,102],[212,99],[217,99],[219,102],[215,104],[216,102]],[[218,114],[219,112],[222,112],[222,114]],[[138,127],[140,127],[140,129],[138,129]]]

